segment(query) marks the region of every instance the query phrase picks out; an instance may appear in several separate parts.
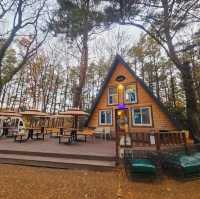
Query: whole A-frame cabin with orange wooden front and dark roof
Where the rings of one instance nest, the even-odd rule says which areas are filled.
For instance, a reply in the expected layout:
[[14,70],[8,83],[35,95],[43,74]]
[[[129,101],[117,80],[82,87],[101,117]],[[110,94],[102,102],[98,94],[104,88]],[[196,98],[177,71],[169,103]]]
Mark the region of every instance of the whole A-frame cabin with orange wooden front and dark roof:
[[163,104],[117,55],[92,106],[87,126],[124,132],[171,131],[179,128]]

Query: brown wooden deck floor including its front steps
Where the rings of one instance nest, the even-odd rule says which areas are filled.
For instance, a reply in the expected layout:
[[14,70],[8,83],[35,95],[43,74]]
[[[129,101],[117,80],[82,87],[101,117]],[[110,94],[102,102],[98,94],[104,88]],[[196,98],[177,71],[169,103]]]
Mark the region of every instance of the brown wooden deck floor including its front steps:
[[0,163],[105,170],[115,167],[115,141],[96,139],[68,145],[49,137],[24,143],[3,137],[0,138]]

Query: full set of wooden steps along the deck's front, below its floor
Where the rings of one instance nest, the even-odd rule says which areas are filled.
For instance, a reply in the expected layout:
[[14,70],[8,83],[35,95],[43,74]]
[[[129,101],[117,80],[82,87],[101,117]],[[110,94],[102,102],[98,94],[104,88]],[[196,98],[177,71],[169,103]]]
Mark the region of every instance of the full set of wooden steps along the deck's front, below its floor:
[[104,171],[115,168],[115,157],[0,150],[0,163]]

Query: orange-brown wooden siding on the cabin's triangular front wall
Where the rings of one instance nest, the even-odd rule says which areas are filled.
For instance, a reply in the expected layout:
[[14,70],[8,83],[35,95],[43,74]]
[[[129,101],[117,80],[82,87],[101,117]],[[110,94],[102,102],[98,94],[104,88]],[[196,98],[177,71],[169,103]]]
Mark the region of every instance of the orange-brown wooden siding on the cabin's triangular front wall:
[[[160,130],[176,130],[176,127],[174,126],[174,124],[171,122],[168,116],[164,112],[161,111],[160,107],[156,104],[155,100],[145,91],[142,85],[138,81],[136,81],[133,75],[122,64],[118,64],[116,66],[116,69],[113,72],[113,75],[111,79],[109,80],[107,87],[104,89],[103,94],[100,97],[100,100],[96,106],[96,109],[90,118],[90,121],[88,123],[89,127],[95,128],[99,126],[99,114],[98,114],[99,110],[112,108],[113,109],[112,128],[115,129],[115,110],[117,109],[117,106],[108,105],[108,88],[119,85],[119,82],[116,81],[116,77],[119,75],[123,75],[126,77],[126,79],[123,82],[120,82],[120,84],[125,86],[131,83],[136,83],[136,86],[137,86],[137,100],[138,100],[137,103],[127,104],[127,107],[129,109],[129,131],[130,132],[147,132],[151,130],[152,128],[160,129]],[[121,98],[121,95],[122,94],[120,93],[119,98]],[[153,126],[152,127],[132,126],[131,108],[133,107],[151,107]]]

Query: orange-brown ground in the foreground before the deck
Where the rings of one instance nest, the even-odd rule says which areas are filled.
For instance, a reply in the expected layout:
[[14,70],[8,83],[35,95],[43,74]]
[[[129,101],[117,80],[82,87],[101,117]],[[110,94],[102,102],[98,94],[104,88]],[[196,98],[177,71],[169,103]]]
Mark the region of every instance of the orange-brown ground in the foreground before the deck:
[[3,199],[199,199],[200,180],[131,182],[123,170],[97,172],[0,165]]

